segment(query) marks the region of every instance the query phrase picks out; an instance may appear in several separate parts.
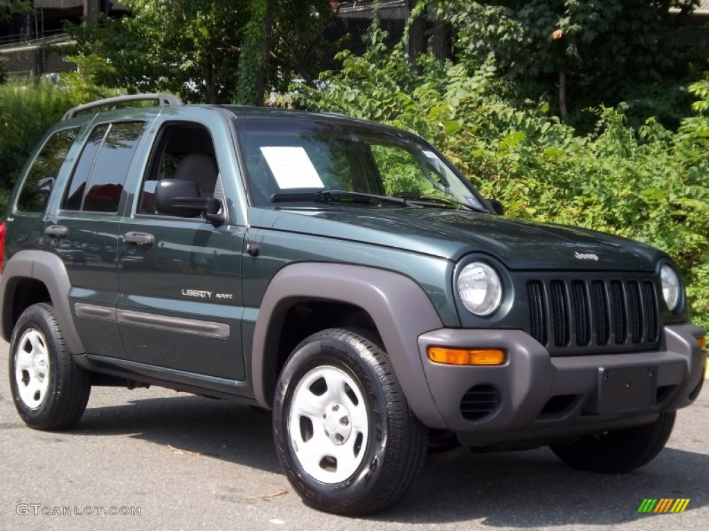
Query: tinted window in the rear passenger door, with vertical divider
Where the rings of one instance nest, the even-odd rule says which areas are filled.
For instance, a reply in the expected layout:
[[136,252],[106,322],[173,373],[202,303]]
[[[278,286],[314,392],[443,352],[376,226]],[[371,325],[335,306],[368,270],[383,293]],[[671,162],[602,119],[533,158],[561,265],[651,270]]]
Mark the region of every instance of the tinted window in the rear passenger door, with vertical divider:
[[143,130],[143,122],[94,128],[79,156],[62,207],[86,212],[118,212],[128,168]]

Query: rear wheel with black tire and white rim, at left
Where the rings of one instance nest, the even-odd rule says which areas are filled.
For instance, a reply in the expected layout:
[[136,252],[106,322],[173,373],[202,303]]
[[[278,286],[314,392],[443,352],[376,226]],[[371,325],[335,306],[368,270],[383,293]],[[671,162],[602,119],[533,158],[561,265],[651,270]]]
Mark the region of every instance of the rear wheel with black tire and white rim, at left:
[[20,316],[9,358],[12,398],[27,426],[65,430],[79,421],[89,401],[90,373],[72,360],[49,304],[33,304]]

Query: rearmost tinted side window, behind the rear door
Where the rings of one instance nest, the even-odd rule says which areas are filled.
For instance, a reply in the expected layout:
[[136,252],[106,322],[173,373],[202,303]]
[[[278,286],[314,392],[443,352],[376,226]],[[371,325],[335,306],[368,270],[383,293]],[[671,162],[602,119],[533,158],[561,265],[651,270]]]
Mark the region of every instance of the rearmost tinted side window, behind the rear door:
[[57,174],[78,131],[78,127],[62,129],[47,139],[22,185],[17,210],[44,212]]

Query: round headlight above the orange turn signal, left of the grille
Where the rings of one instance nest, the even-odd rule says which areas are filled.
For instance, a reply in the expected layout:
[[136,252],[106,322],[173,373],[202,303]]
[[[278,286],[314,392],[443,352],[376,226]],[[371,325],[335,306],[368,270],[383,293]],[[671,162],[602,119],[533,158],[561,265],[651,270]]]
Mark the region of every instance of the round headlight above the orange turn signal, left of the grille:
[[490,315],[502,302],[500,275],[484,262],[469,263],[458,276],[458,293],[471,312]]

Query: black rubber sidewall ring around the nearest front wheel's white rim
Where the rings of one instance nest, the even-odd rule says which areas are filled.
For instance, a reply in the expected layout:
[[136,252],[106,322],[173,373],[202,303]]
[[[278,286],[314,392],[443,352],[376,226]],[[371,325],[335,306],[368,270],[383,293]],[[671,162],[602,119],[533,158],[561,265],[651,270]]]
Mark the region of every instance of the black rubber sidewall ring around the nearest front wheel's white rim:
[[[386,394],[371,362],[366,348],[357,349],[347,341],[323,337],[301,343],[284,367],[274,401],[274,435],[286,475],[306,503],[331,509],[352,506],[367,498],[372,485],[379,479],[387,450],[389,418]],[[352,377],[362,392],[369,424],[362,462],[352,476],[337,484],[321,483],[303,470],[291,445],[288,428],[291,400],[298,382],[308,372],[323,365],[336,367]]]

